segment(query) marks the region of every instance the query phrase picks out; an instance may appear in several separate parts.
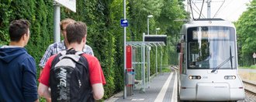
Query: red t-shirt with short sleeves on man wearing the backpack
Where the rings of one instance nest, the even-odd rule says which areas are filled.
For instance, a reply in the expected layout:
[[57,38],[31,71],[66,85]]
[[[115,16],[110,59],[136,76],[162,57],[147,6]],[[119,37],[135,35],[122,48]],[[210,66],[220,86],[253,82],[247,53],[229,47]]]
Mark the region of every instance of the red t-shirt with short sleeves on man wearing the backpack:
[[[50,78],[50,68],[51,63],[54,60],[54,56],[50,56],[47,60],[46,65],[43,68],[43,72],[40,75],[39,82],[43,83],[47,87],[50,87],[49,78]],[[106,84],[105,77],[102,72],[102,67],[99,64],[99,60],[95,56],[91,56],[88,54],[84,54],[85,58],[88,60],[89,73],[90,73],[90,81],[91,84],[102,83]]]

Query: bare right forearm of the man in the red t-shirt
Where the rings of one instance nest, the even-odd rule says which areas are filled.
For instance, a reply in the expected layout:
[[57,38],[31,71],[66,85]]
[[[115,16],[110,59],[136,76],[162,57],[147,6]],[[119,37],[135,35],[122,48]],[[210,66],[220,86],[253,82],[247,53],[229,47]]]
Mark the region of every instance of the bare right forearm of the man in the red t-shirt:
[[92,92],[93,92],[93,97],[95,100],[102,99],[102,97],[104,95],[104,88],[103,88],[102,83],[92,84]]

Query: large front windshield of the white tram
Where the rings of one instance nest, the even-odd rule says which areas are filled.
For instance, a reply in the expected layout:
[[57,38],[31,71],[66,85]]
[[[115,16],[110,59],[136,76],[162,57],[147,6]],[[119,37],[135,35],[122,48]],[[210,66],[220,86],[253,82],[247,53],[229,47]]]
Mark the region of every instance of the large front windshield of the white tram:
[[235,31],[232,27],[203,26],[188,29],[189,69],[235,69]]

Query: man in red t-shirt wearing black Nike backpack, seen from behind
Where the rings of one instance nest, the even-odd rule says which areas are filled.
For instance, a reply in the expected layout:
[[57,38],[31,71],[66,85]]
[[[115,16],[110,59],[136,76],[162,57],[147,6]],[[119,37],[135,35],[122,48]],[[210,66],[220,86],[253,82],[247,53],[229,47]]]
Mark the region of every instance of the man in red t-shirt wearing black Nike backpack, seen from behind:
[[82,52],[87,36],[85,23],[71,23],[66,30],[67,50],[47,60],[40,75],[38,93],[47,101],[87,102],[102,99],[106,80],[99,60]]

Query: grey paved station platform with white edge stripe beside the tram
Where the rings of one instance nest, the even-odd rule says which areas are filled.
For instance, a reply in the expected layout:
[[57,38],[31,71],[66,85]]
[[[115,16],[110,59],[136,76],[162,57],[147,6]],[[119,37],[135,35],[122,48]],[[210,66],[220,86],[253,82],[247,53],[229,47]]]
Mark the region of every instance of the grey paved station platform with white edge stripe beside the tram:
[[150,83],[145,88],[145,92],[140,88],[133,88],[133,95],[123,99],[123,92],[116,93],[105,102],[177,102],[178,76],[175,70],[170,73],[158,73],[151,78]]

